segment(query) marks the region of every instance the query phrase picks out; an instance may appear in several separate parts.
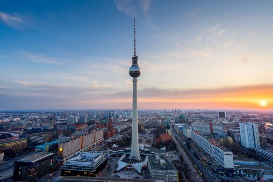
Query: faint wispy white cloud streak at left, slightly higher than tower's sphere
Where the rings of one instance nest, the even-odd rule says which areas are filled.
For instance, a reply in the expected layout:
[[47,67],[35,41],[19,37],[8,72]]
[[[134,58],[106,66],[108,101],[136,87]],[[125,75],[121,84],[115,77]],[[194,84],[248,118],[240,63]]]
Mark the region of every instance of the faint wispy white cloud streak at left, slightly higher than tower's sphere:
[[67,65],[66,63],[58,60],[57,58],[49,58],[43,55],[31,54],[26,51],[23,51],[22,54],[24,60],[32,61],[35,63]]

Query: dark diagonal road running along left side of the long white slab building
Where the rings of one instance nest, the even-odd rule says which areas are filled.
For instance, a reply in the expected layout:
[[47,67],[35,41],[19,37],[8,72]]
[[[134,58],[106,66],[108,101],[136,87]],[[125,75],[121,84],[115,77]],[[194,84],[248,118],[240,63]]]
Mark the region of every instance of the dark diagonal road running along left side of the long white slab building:
[[172,132],[174,134],[174,136],[176,136],[176,138],[179,140],[179,145],[182,147],[182,149],[184,150],[185,154],[188,156],[188,158],[190,159],[191,163],[196,164],[197,167],[200,169],[200,171],[203,173],[203,178],[204,181],[207,182],[212,182],[215,181],[212,176],[207,172],[207,170],[204,168],[204,166],[197,160],[197,158],[194,156],[193,152],[189,150],[189,148],[183,143],[183,139],[182,137],[177,134],[174,130]]

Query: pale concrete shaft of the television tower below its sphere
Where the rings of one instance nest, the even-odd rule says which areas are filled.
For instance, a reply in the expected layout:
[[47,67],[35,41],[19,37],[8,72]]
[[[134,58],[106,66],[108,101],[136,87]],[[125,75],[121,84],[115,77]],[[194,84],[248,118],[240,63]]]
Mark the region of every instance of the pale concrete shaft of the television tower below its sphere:
[[130,159],[135,157],[136,160],[141,161],[138,149],[138,113],[137,113],[137,78],[133,77],[133,117],[132,117],[132,144]]

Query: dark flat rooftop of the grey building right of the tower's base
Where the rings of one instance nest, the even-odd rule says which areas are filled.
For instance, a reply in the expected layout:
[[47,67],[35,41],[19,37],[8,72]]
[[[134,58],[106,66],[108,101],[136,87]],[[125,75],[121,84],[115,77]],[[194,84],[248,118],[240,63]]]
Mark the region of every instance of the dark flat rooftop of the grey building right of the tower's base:
[[149,154],[148,159],[153,169],[177,170],[164,155]]

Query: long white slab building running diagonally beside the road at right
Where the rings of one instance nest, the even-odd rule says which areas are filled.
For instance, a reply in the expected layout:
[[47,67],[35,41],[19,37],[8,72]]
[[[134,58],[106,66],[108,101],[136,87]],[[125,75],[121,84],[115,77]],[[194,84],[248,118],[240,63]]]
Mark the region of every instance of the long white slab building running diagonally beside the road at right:
[[233,169],[233,153],[222,147],[215,139],[209,139],[197,131],[191,132],[191,139],[224,168]]

